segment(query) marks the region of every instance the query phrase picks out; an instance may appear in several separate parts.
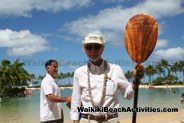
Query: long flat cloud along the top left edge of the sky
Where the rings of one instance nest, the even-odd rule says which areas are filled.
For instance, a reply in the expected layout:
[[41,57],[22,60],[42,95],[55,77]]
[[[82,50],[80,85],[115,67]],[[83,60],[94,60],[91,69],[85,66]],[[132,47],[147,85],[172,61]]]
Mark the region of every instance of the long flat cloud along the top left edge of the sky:
[[0,18],[31,16],[32,10],[58,12],[88,6],[91,0],[0,0]]

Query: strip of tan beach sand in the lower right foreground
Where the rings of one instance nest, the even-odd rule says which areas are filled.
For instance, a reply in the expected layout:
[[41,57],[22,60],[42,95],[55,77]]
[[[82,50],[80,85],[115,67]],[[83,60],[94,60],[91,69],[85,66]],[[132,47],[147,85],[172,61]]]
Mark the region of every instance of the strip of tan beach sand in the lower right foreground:
[[[184,121],[184,109],[179,112],[156,113],[150,116],[137,116],[137,123],[182,123]],[[132,123],[132,117],[121,119],[120,123]],[[184,122],[183,122],[184,123]]]

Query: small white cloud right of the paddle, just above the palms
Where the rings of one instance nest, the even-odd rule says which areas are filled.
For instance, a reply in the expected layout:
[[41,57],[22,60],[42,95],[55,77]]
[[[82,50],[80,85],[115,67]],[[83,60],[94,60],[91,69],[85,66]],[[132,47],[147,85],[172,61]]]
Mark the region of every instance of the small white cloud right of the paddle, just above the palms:
[[184,59],[184,48],[169,48],[167,50],[157,50],[154,55],[156,58],[164,58],[168,60]]

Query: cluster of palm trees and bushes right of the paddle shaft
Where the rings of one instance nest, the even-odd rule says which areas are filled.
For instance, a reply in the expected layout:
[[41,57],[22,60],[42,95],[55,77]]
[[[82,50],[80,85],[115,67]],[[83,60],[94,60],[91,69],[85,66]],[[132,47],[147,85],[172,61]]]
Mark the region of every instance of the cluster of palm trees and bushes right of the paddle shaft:
[[[183,75],[183,79],[180,80],[184,83],[184,61],[176,61],[174,63],[169,63],[165,59],[161,59],[154,66],[148,65],[145,67],[145,76],[148,77],[149,84],[152,85],[162,85],[165,84],[178,84],[178,74]],[[157,75],[157,76],[155,76]],[[153,77],[158,77],[153,79]],[[181,83],[182,83],[181,82]]]

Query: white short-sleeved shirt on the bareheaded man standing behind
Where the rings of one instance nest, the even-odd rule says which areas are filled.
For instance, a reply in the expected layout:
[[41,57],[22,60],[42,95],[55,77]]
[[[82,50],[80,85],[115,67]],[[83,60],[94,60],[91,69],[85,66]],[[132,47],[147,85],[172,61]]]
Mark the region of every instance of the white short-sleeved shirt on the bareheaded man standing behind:
[[41,82],[40,90],[40,120],[49,121],[61,119],[61,104],[51,102],[46,95],[54,94],[60,96],[60,90],[55,80],[46,74]]

